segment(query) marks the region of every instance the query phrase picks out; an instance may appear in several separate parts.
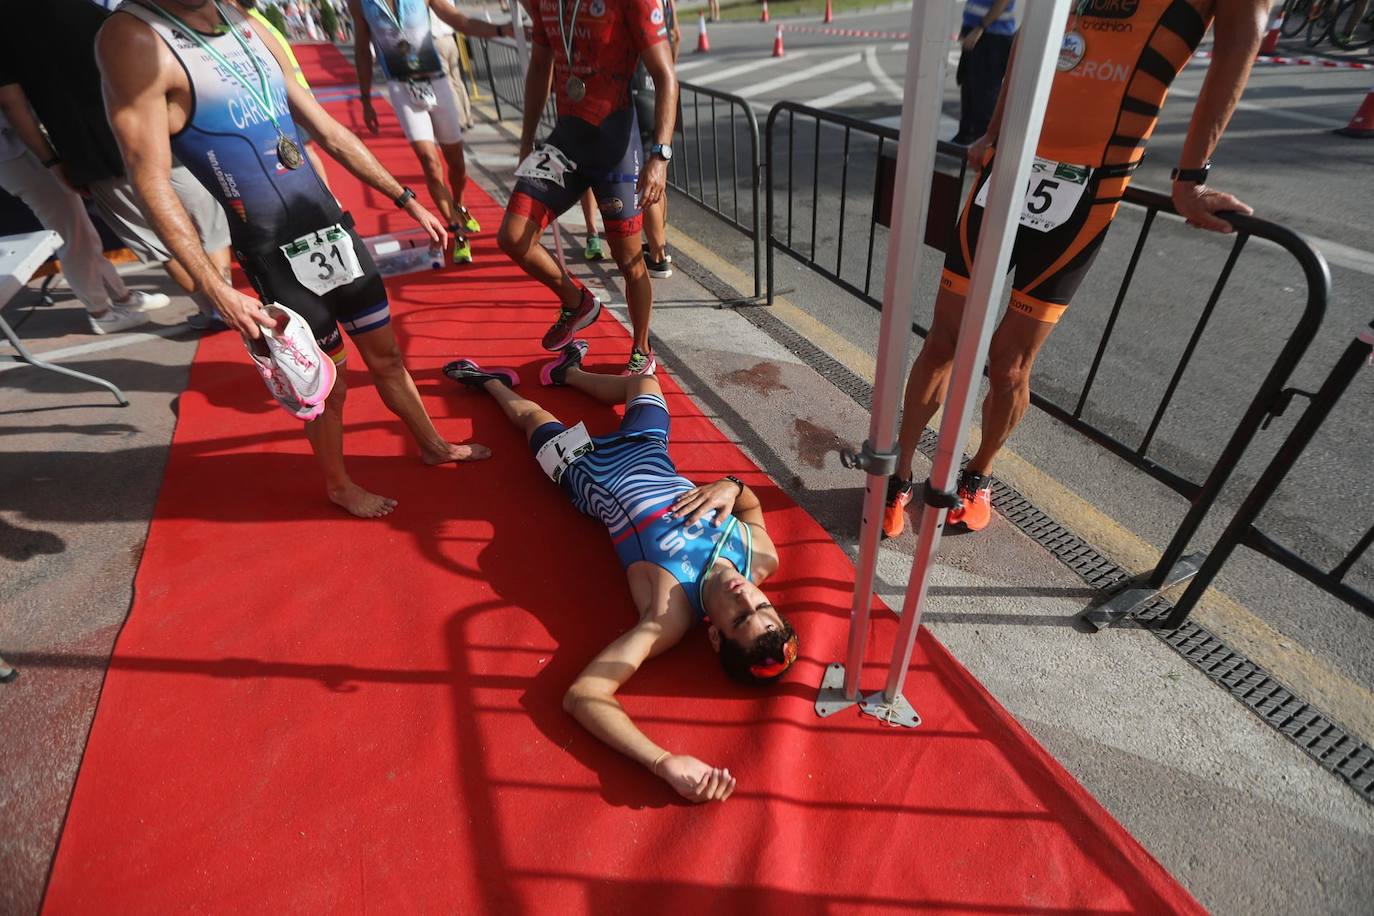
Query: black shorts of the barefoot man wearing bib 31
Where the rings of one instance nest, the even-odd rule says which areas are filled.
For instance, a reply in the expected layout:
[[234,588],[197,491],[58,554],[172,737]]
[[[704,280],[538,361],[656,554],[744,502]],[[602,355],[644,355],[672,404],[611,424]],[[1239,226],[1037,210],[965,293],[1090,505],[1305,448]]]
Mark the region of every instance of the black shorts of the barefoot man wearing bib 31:
[[253,254],[234,253],[243,266],[243,273],[257,290],[258,298],[284,305],[305,319],[320,349],[335,363],[344,361],[344,335],[339,332],[339,325],[349,332],[349,336],[357,336],[392,323],[392,308],[386,301],[382,273],[376,269],[363,239],[353,229],[352,217],[345,213],[341,225],[353,240],[353,251],[363,268],[363,276],[324,295],[301,286],[280,249]]

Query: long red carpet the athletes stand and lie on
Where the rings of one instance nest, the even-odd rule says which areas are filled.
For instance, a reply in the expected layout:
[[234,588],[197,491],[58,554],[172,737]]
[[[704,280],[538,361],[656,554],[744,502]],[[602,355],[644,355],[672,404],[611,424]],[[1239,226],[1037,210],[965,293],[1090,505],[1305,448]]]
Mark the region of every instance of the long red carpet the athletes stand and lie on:
[[[305,48],[311,76],[322,56],[345,71],[333,48]],[[378,107],[372,148],[422,188]],[[356,103],[333,108],[359,125]],[[331,177],[364,231],[403,227]],[[565,715],[563,689],[631,603],[600,526],[493,404],[440,378],[458,353],[534,378],[552,317],[496,250],[497,206],[470,195],[477,265],[389,287],[440,428],[499,457],[422,467],[354,358],[352,470],[400,508],[353,520],[324,501],[300,423],[239,341],[201,345],[47,911],[1198,911],[925,633],[908,683],[921,729],[815,717],[852,567],[671,376],[683,472],[739,474],[765,503],[783,558],[769,593],[804,658],[768,694],[738,689],[695,633],[622,695],[657,740],[730,766],[724,805],[679,803]],[[624,360],[614,321],[592,331],[594,363]],[[614,423],[576,393],[540,397],[594,433]],[[872,658],[893,629],[886,614],[874,625]]]

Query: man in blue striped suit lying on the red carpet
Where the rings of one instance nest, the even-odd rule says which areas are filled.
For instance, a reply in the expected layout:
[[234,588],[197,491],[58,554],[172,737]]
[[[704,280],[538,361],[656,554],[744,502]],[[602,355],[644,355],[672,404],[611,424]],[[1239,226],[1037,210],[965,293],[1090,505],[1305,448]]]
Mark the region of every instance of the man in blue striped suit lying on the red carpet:
[[680,477],[668,456],[668,405],[653,376],[600,375],[581,368],[585,341],[573,341],[544,365],[547,386],[567,385],[603,404],[625,404],[620,430],[589,437],[515,394],[519,375],[471,360],[444,367],[448,378],[481,389],[529,439],[544,472],[578,509],[600,519],[625,566],[639,623],[617,637],[577,676],[566,709],[598,739],[639,761],[695,802],[735,791],[728,769],[655,744],[629,720],[616,691],[694,623],[725,672],[741,681],[778,680],[797,658],[797,633],[758,585],[778,569],[778,551],[758,497],[738,478],[701,486]]

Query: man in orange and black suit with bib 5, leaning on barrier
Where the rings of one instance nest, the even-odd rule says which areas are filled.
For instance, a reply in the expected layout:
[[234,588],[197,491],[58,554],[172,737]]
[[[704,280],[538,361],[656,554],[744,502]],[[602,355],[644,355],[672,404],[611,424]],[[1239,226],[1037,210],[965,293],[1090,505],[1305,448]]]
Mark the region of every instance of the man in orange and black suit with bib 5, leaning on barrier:
[[[1072,0],[1036,165],[1017,227],[1011,304],[988,349],[982,441],[959,478],[949,522],[992,518],[992,461],[1030,404],[1030,367],[1092,265],[1160,118],[1169,84],[1215,26],[1212,63],[1173,172],[1173,205],[1189,225],[1230,232],[1216,214],[1250,207],[1206,184],[1212,151],[1250,76],[1268,0]],[[1013,51],[1014,54],[1014,51]],[[897,474],[888,481],[883,534],[896,537],[912,496],[921,431],[944,401],[982,222],[1006,84],[988,133],[969,147],[980,168],[940,277],[934,320],[907,380]]]

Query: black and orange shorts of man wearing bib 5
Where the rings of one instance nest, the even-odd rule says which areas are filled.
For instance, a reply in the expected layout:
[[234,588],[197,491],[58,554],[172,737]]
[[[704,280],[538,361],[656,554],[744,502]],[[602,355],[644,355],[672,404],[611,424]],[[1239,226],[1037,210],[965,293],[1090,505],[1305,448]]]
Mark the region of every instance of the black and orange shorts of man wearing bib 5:
[[[1063,222],[1048,232],[1025,225],[1017,227],[1010,265],[1015,271],[1011,282],[1013,312],[1050,324],[1059,320],[1083,277],[1087,276],[1088,268],[1092,266],[1098,249],[1106,239],[1107,228],[1116,217],[1121,195],[1125,194],[1129,181],[1129,172],[1123,172],[1123,169],[1094,170],[1077,206]],[[940,287],[958,295],[969,294],[969,271],[973,266],[978,231],[982,227],[982,207],[974,205],[973,199],[991,174],[989,157],[969,191],[954,238],[945,247]]]

